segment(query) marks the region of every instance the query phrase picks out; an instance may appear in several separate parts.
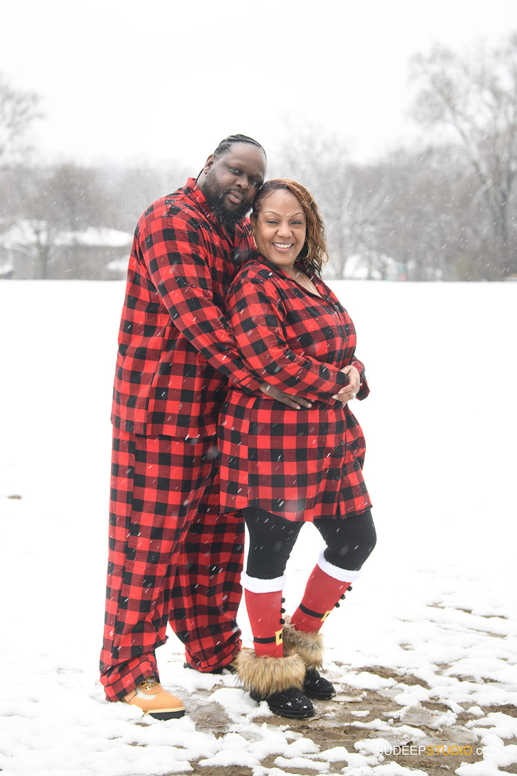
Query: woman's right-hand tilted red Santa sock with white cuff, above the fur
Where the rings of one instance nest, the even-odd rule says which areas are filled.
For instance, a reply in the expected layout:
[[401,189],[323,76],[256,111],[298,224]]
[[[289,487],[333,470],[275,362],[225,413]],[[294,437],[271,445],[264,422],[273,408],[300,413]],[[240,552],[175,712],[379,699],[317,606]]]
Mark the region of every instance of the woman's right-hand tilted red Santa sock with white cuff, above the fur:
[[305,632],[318,631],[339,603],[345,591],[357,580],[360,571],[348,571],[334,566],[323,553],[308,577],[305,593],[298,609],[291,617],[291,625]]

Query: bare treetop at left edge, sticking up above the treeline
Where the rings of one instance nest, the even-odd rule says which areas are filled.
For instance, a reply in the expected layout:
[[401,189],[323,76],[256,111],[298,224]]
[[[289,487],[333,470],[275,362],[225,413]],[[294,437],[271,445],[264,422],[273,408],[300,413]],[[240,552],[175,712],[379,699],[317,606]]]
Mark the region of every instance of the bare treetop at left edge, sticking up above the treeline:
[[18,161],[28,147],[26,134],[40,117],[40,97],[12,88],[0,75],[0,165]]

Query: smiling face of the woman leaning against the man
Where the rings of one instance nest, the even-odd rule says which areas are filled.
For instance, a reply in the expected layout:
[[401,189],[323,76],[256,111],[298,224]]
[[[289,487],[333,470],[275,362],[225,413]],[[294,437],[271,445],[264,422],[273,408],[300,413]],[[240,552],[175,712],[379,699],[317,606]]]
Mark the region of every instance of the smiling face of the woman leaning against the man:
[[279,267],[292,267],[305,242],[305,213],[294,194],[277,189],[260,204],[251,218],[257,249]]

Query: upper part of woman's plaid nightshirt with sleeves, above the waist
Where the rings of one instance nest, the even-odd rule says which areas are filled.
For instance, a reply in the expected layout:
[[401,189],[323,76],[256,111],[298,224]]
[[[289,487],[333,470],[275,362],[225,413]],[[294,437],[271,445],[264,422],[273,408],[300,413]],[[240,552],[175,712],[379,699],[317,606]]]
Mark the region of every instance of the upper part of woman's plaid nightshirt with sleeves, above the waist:
[[311,277],[326,302],[311,306],[311,297],[262,256],[243,268],[226,300],[243,361],[265,383],[331,406],[333,394],[348,383],[340,370],[352,365],[361,376],[357,398],[364,399],[370,389],[364,364],[353,355],[355,330],[350,336],[351,321],[339,300],[322,279]]

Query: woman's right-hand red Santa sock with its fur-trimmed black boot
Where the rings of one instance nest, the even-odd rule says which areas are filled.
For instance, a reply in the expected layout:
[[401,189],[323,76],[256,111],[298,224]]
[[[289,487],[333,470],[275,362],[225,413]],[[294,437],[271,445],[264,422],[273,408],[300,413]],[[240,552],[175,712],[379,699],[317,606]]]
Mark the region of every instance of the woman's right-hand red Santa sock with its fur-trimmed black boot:
[[359,576],[358,571],[349,571],[334,566],[320,554],[305,587],[305,593],[290,620],[284,625],[284,653],[297,653],[307,667],[304,692],[308,698],[329,700],[336,695],[333,684],[319,675],[323,663],[323,637],[319,632],[323,622],[339,599]]

